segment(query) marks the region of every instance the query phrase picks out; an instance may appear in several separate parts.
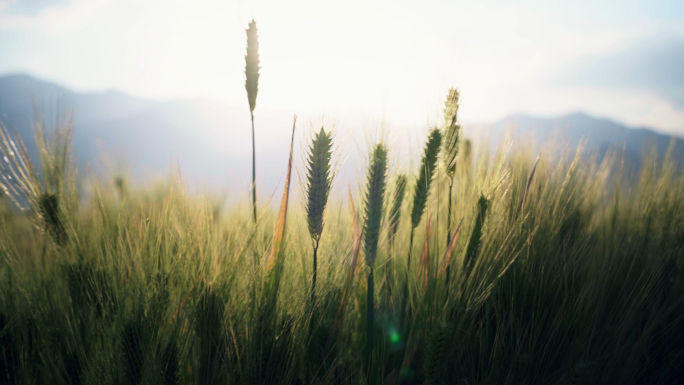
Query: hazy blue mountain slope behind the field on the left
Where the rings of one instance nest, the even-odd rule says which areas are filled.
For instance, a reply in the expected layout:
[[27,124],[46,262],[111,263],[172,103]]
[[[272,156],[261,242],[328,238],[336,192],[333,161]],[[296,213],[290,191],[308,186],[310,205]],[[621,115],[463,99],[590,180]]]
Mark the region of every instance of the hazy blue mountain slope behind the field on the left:
[[[179,165],[191,185],[248,188],[251,183],[246,104],[160,102],[117,91],[77,93],[26,75],[0,77],[0,121],[27,145],[33,143],[34,100],[48,126],[64,107],[73,112],[74,153],[81,169],[111,174],[123,168],[136,180],[149,180]],[[257,175],[277,182],[285,166],[269,165],[287,164],[288,148],[279,144],[289,140],[291,115],[262,110],[255,115]]]

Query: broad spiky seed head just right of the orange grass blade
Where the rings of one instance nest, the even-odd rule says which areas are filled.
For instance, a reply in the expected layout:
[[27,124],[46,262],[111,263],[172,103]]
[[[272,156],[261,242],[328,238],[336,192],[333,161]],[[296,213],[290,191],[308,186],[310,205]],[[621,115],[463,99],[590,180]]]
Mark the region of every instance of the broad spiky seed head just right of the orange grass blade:
[[323,211],[328,203],[332,184],[330,157],[332,155],[332,138],[323,127],[313,139],[309,148],[309,164],[307,167],[306,214],[309,223],[309,234],[314,244],[318,245],[323,232]]

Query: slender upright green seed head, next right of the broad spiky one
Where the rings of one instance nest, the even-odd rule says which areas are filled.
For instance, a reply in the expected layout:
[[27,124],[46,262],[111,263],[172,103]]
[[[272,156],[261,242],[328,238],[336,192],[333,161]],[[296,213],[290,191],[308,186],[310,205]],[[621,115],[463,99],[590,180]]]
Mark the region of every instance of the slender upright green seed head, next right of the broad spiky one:
[[371,161],[368,167],[368,181],[366,183],[366,218],[363,228],[363,251],[366,255],[366,264],[368,266],[372,266],[377,257],[386,174],[387,148],[380,143],[375,146],[371,154]]

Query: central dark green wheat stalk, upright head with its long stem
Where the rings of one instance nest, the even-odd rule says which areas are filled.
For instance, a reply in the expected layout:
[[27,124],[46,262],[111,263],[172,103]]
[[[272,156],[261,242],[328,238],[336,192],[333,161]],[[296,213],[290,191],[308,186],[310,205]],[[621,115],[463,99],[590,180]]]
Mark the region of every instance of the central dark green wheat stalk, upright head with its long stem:
[[373,367],[373,328],[375,324],[374,316],[374,288],[373,288],[373,265],[377,257],[378,238],[380,235],[380,221],[382,219],[383,199],[385,196],[387,174],[387,149],[383,144],[377,144],[371,154],[371,161],[368,167],[368,180],[366,183],[366,210],[363,251],[368,266],[368,297],[366,312],[366,364],[368,368],[368,384],[372,383]]

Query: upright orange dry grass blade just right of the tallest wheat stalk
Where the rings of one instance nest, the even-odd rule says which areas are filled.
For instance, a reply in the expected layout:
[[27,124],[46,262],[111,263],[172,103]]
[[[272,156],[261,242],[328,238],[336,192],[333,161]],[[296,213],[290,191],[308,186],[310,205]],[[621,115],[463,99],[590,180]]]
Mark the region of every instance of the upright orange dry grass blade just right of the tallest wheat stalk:
[[283,199],[280,201],[280,212],[273,234],[273,247],[268,261],[268,287],[271,294],[277,292],[278,283],[283,264],[283,240],[285,238],[285,225],[287,220],[287,202],[290,197],[290,176],[292,174],[292,152],[294,148],[294,133],[297,126],[297,115],[292,123],[292,140],[290,142],[290,158],[287,162],[287,177],[285,178],[285,188],[283,189]]

